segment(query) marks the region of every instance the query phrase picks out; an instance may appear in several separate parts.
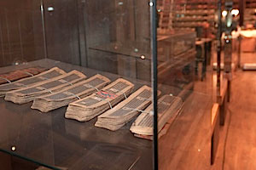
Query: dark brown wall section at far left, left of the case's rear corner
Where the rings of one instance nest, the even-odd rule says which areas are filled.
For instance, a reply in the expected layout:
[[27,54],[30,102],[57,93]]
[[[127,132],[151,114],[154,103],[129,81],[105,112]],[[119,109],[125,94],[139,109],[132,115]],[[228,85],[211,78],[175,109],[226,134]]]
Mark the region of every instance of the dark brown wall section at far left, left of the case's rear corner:
[[[44,51],[41,47],[43,37],[38,34],[42,26],[34,29],[33,14],[40,13],[37,1],[10,0],[0,2],[0,66],[42,59]],[[40,18],[39,18],[40,20]],[[37,35],[37,37],[35,37]]]

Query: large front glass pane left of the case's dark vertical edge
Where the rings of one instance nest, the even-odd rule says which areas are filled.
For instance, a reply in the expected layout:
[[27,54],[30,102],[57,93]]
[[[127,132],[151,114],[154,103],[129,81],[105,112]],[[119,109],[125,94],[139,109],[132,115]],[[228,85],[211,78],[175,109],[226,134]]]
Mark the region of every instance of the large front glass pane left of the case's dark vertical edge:
[[[32,60],[26,64],[14,66],[12,60],[3,60],[1,65],[9,66],[1,67],[0,75],[30,67],[47,70],[58,67],[66,72],[79,71],[81,78],[72,82],[71,77],[62,78],[66,75],[63,71],[55,71],[58,76],[64,75],[61,78],[55,74],[29,77],[32,79],[28,81],[21,79],[23,82],[9,81],[10,76],[3,78],[7,80],[0,85],[3,94],[0,99],[0,149],[55,169],[153,169],[152,139],[144,139],[130,130],[137,116],[151,103],[153,91],[148,0],[26,1],[26,6],[30,5],[32,8],[26,8],[26,13],[33,18],[20,18],[20,23],[26,22],[25,37],[35,41],[26,48],[40,53],[32,54],[32,59],[24,58]],[[2,10],[1,17],[9,13],[16,15],[1,20],[1,26],[3,22],[11,22],[19,28],[18,15],[23,14],[20,8],[17,5],[6,9],[8,12]],[[2,28],[1,31],[6,30]],[[9,30],[20,43],[17,32]],[[8,49],[9,41],[1,41],[3,48]],[[22,50],[19,50],[19,55],[13,55],[23,59]],[[8,58],[3,56],[2,59]],[[17,72],[14,74],[17,76]],[[96,75],[104,77],[96,81],[105,81],[104,84],[97,87],[96,82],[84,82]],[[123,82],[113,85],[118,79]],[[110,88],[102,89],[107,85]],[[79,88],[73,89],[73,86]],[[16,96],[15,92],[20,89],[6,92],[15,88],[29,93]],[[40,103],[46,99],[43,99],[44,94],[47,99],[53,99],[50,100],[52,105]],[[43,100],[39,99],[41,97]],[[59,100],[54,100],[56,98]],[[68,112],[67,105],[72,108],[72,102],[90,109],[88,112]],[[104,116],[110,111],[113,113],[107,115],[105,121]],[[90,116],[84,116],[85,112]]]

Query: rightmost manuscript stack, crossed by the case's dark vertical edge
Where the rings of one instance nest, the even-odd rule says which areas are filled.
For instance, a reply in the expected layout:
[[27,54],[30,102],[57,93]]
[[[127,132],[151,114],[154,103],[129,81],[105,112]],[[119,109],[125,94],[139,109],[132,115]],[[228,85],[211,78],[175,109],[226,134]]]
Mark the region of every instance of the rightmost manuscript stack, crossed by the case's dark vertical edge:
[[[183,107],[183,100],[179,97],[164,95],[158,100],[158,132],[166,125],[166,122],[174,120]],[[154,112],[153,104],[149,105],[137,120],[131,125],[131,132],[138,135],[153,136]]]

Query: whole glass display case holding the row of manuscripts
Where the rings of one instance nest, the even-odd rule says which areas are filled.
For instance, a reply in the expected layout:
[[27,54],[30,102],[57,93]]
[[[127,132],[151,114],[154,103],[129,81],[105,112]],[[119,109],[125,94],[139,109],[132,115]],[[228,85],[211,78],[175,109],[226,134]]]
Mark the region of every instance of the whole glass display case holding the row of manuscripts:
[[0,3],[2,157],[27,169],[210,167],[212,72],[199,81],[196,32],[166,25],[162,13],[180,11],[166,2]]

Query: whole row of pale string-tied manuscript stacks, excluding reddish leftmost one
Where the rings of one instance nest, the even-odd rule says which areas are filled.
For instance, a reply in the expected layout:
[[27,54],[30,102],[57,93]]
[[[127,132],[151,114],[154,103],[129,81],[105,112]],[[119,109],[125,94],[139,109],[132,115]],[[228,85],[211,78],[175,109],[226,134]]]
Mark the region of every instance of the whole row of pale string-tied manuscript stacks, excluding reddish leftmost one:
[[[123,78],[111,82],[99,74],[87,78],[82,72],[65,72],[55,67],[36,76],[0,85],[0,95],[20,105],[32,101],[32,109],[45,113],[68,105],[66,118],[87,122],[97,117],[96,127],[112,131],[137,118],[131,125],[131,132],[153,135],[152,89],[143,86],[134,92],[134,84]],[[183,101],[166,94],[158,102],[160,131],[177,116]]]

